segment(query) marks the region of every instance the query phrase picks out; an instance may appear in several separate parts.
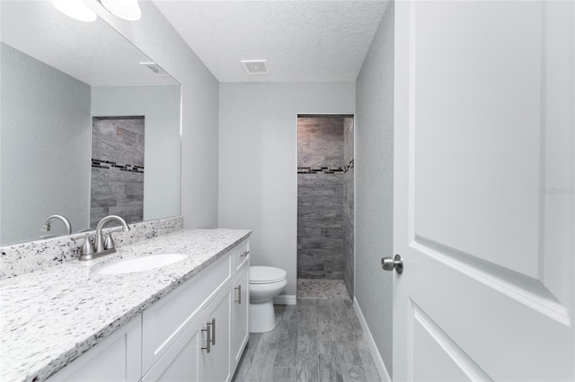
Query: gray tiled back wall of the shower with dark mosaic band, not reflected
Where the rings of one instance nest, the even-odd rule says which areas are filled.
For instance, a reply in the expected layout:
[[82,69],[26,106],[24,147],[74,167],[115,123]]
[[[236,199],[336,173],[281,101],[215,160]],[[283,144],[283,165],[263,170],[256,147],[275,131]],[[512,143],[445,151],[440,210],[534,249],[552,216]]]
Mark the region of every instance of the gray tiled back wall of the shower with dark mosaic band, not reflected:
[[297,277],[342,279],[343,117],[297,118]]

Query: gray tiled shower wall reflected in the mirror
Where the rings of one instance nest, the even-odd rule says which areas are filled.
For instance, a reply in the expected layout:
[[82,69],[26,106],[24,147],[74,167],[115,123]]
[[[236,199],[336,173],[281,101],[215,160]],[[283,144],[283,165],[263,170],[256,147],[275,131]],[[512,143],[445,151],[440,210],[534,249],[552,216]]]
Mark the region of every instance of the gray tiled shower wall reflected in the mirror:
[[144,220],[144,117],[93,117],[90,225]]

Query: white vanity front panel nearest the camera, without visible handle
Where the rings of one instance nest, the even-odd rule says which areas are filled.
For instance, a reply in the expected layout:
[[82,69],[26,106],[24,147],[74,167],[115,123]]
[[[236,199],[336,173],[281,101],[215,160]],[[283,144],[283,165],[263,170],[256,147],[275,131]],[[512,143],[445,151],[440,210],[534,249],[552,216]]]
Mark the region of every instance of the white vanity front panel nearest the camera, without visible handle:
[[49,378],[55,381],[137,381],[141,363],[140,315]]

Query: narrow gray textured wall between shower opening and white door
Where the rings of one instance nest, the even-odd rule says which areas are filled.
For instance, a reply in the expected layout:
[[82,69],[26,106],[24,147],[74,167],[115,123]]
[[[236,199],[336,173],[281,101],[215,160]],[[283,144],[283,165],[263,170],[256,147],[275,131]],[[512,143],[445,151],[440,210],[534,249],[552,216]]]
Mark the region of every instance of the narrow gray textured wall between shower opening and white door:
[[355,293],[377,349],[392,375],[394,3],[390,2],[356,82]]

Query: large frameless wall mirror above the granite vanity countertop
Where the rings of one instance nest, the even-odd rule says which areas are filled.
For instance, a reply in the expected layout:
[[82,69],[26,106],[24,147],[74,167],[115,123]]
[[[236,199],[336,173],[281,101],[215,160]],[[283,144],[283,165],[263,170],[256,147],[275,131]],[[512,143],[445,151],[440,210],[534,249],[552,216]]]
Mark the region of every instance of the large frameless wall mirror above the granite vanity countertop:
[[[59,221],[41,230],[54,214],[73,233],[93,229],[95,213],[179,215],[180,84],[101,19],[48,1],[3,0],[0,16],[0,246],[66,234]],[[130,214],[136,199],[143,211]]]

